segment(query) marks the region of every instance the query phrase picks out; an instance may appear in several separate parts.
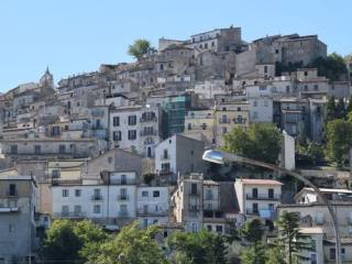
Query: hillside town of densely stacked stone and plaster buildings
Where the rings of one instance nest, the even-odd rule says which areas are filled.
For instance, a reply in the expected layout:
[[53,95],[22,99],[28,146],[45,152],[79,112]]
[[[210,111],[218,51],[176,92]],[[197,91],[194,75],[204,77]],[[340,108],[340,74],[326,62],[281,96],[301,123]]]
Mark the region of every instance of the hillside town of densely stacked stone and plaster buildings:
[[[148,44],[134,47],[141,42]],[[270,243],[287,212],[298,212],[312,244],[299,263],[352,262],[352,57],[330,70],[339,55],[318,35],[249,41],[233,25],[131,53],[133,63],[57,82],[46,68],[37,81],[2,87],[1,264],[46,263],[41,249],[58,220],[89,220],[108,233],[138,221],[157,227],[161,246],[174,232],[232,235],[261,220]],[[331,140],[333,124],[343,147]],[[273,150],[239,147],[261,131],[264,144],[277,133]],[[209,150],[299,174],[319,194],[283,170],[210,163]],[[230,243],[227,263],[244,263],[234,244],[249,246]]]

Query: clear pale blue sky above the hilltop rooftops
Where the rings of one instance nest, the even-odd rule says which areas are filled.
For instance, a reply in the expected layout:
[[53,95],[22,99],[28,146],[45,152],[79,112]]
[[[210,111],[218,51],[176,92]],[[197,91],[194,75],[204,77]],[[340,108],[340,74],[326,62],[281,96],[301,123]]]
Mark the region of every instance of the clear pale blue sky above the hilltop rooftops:
[[231,24],[245,41],[266,34],[318,34],[329,53],[352,53],[350,0],[1,0],[0,91],[37,81],[46,66],[55,82],[130,62],[135,38],[187,38]]

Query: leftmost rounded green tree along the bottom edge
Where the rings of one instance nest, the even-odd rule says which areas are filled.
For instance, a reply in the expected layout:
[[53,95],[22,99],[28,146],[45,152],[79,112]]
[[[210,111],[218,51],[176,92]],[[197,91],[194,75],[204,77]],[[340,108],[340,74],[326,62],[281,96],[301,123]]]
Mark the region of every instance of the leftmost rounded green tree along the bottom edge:
[[82,260],[79,255],[81,248],[82,242],[76,235],[73,222],[55,220],[46,232],[42,255],[44,262],[81,263]]

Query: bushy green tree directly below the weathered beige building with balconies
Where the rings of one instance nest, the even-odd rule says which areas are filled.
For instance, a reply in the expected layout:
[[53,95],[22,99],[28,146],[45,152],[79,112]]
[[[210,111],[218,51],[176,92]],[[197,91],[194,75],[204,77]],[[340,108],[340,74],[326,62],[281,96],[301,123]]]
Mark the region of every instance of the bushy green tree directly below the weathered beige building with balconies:
[[174,232],[169,237],[167,244],[173,252],[172,258],[176,258],[175,255],[180,255],[185,263],[227,263],[224,238],[207,230],[201,230],[197,233]]

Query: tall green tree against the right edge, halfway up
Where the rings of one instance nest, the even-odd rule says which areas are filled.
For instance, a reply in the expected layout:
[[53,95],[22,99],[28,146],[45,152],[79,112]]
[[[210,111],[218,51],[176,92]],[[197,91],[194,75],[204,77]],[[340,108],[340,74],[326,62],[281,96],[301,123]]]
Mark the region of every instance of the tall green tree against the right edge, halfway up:
[[326,138],[330,160],[342,165],[352,145],[352,123],[341,119],[329,121]]

